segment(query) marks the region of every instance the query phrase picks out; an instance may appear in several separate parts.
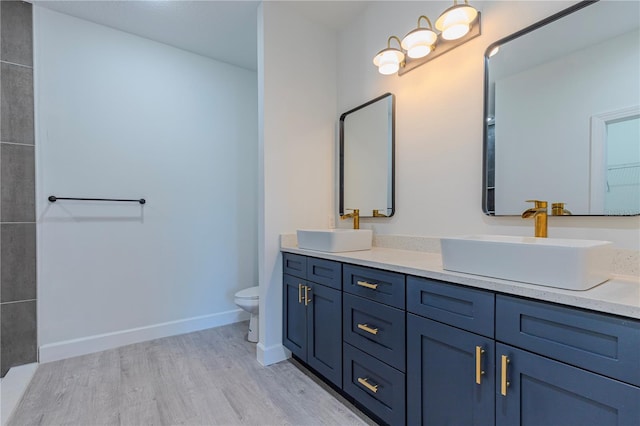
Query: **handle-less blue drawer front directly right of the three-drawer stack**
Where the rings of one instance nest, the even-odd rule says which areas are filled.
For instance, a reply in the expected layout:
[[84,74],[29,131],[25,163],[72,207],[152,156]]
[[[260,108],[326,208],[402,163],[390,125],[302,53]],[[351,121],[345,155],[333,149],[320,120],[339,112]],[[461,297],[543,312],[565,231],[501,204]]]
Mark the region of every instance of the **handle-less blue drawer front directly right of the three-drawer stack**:
[[427,278],[407,277],[407,311],[493,338],[493,293]]

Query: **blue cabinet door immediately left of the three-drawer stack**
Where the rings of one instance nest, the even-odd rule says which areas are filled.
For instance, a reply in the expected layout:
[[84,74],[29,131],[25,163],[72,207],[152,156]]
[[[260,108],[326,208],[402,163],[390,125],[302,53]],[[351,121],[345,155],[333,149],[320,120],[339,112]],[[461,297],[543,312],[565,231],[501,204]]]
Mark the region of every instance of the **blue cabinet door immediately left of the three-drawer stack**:
[[308,285],[307,363],[342,388],[342,292]]

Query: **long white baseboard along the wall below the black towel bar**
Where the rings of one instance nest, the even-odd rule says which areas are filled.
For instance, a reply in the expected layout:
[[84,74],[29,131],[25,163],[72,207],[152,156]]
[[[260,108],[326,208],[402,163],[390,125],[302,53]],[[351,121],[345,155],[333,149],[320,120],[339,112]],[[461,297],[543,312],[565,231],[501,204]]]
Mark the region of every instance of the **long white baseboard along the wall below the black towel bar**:
[[232,311],[186,318],[146,327],[131,328],[128,330],[115,331],[113,333],[98,334],[80,339],[49,343],[40,346],[40,362],[46,363],[58,361],[74,356],[114,349],[133,343],[145,342],[147,340],[233,324],[240,321],[246,321],[248,319],[248,312],[245,312],[242,309],[234,309]]

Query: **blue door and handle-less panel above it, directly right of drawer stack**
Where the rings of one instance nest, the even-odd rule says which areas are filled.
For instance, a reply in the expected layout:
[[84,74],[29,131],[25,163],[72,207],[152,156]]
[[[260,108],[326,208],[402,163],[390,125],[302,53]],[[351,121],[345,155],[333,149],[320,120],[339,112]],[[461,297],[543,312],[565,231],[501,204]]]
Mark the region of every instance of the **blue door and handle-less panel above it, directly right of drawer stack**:
[[494,424],[494,300],[407,277],[407,424]]

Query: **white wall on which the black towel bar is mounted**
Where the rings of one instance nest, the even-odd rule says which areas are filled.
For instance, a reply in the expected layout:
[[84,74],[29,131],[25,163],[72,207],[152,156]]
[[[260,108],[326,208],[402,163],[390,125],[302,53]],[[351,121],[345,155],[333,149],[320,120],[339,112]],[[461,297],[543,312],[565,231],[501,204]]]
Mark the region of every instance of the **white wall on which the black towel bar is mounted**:
[[34,11],[41,355],[243,318],[234,293],[258,282],[256,73]]

